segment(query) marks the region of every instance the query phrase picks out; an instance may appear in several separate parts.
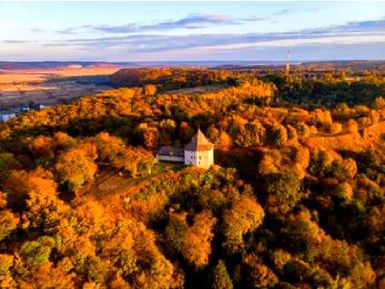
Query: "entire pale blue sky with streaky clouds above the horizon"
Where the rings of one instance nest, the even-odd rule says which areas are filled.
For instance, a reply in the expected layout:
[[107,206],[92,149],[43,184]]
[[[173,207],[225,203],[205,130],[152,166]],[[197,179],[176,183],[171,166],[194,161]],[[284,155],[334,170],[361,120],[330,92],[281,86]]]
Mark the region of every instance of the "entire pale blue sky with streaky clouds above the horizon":
[[385,2],[0,2],[0,60],[385,59]]

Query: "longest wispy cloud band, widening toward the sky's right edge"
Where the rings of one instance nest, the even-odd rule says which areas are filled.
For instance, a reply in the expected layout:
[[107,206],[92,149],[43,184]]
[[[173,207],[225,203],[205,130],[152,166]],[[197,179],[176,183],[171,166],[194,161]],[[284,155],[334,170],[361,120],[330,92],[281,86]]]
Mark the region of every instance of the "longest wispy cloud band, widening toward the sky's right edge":
[[[382,39],[382,40],[381,40]],[[309,43],[385,42],[385,19],[350,22],[344,25],[290,32],[240,34],[128,34],[51,42],[47,46],[71,46],[84,50],[120,49],[133,53],[155,53],[192,48],[243,49],[255,46],[285,46]]]

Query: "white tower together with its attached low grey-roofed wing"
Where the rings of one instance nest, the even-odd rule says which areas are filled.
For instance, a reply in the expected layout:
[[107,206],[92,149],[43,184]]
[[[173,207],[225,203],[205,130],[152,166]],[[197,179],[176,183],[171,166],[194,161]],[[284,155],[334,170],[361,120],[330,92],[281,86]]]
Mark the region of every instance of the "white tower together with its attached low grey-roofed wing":
[[189,166],[208,169],[214,164],[214,144],[209,142],[201,130],[186,144],[184,149],[177,147],[161,147],[157,161],[184,162]]

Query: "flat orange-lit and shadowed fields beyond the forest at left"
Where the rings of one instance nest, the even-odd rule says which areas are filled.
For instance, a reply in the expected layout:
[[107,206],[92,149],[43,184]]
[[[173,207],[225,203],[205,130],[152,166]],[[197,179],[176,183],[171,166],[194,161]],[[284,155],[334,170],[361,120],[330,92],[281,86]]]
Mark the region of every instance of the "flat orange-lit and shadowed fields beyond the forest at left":
[[[31,69],[0,71],[0,105],[14,106],[29,101],[55,105],[110,88],[94,85],[92,76],[108,75],[118,67]],[[81,81],[82,77],[86,81]]]

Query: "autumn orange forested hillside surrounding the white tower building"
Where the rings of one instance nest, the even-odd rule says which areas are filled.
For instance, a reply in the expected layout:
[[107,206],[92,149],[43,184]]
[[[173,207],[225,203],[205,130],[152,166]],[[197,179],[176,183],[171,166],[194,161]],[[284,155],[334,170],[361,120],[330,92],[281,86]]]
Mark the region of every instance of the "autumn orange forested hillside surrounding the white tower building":
[[[384,76],[123,69],[0,124],[0,287],[385,286]],[[208,170],[155,163],[200,128]]]

